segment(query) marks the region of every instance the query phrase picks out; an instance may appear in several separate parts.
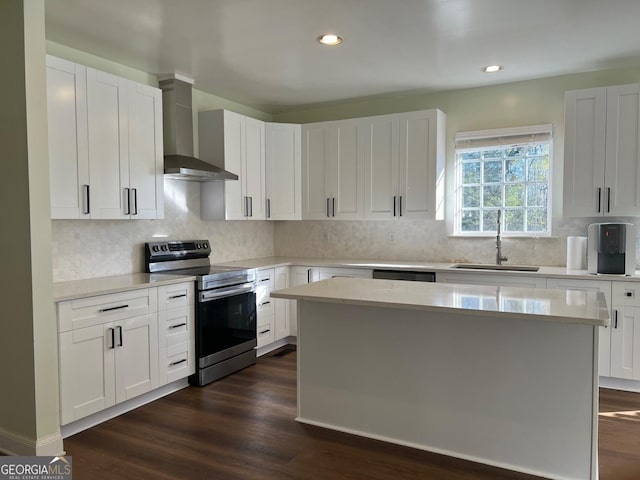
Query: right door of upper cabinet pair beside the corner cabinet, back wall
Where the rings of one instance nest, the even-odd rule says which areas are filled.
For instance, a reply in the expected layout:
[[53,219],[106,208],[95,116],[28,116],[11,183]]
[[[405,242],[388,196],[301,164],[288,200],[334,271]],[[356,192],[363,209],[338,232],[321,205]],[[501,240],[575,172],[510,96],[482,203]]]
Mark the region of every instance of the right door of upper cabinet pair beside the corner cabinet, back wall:
[[362,121],[340,120],[331,126],[331,218],[358,220],[364,215],[364,138]]

